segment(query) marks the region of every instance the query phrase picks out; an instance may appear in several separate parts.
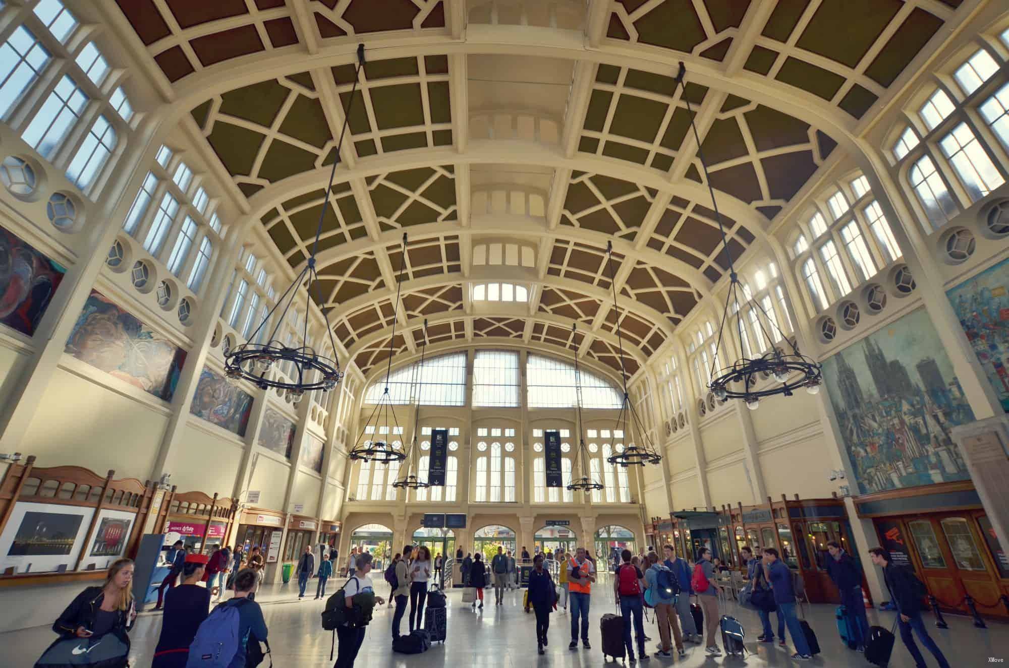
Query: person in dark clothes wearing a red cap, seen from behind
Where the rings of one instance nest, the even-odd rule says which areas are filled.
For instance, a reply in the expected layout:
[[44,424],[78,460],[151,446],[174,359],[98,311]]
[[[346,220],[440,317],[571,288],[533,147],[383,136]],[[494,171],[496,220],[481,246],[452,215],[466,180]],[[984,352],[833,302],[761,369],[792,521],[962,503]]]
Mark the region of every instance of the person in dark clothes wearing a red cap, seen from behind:
[[[215,552],[217,555],[220,550]],[[210,608],[211,589],[200,586],[207,564],[213,557],[191,554],[183,567],[182,585],[164,596],[161,635],[154,648],[151,668],[186,668],[189,647]]]

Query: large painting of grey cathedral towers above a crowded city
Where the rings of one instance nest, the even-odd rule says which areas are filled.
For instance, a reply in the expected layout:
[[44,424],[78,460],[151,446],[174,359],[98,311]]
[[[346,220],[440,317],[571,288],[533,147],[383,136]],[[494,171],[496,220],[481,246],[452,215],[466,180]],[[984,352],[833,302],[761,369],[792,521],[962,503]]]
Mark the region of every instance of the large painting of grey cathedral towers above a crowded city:
[[970,477],[949,430],[974,420],[924,309],[823,362],[860,493]]

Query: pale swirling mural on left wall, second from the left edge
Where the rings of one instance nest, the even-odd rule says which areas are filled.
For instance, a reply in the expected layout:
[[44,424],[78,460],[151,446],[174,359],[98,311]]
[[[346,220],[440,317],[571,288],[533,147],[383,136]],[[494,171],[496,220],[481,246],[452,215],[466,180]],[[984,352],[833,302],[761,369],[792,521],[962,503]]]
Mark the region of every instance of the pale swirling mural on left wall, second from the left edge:
[[185,350],[95,290],[74,324],[66,352],[166,402],[186,362]]

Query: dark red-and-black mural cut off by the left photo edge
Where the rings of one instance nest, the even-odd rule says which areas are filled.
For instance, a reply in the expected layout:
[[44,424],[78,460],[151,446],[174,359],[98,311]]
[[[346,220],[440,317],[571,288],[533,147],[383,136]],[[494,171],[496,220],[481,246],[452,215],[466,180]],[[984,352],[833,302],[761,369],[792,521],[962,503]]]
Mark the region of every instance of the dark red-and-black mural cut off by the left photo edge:
[[67,272],[0,227],[0,323],[31,336]]

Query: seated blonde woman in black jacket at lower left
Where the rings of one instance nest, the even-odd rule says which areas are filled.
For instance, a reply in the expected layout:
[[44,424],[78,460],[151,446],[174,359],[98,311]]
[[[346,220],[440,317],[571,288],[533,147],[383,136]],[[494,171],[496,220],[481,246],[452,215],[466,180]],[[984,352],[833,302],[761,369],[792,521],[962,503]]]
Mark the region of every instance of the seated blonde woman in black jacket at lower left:
[[79,593],[52,625],[52,631],[65,638],[92,638],[110,631],[129,631],[136,621],[132,585],[133,560],[116,559],[105,583]]

